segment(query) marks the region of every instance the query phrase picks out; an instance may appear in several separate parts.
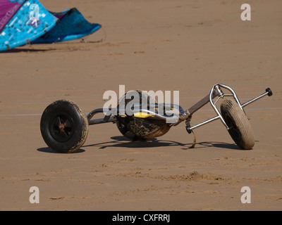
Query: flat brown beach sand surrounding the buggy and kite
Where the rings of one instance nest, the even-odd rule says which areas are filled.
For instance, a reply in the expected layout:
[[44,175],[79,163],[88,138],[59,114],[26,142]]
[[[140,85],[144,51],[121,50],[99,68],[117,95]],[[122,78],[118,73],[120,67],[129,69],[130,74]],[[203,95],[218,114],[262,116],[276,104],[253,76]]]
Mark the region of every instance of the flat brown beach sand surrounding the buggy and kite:
[[[102,30],[85,41],[22,46],[0,53],[0,210],[282,210],[282,2],[42,0],[50,11],[76,6]],[[240,150],[220,121],[185,124],[147,142],[130,142],[115,124],[90,126],[72,154],[54,153],[39,122],[58,99],[85,113],[104,91],[180,91],[190,108],[212,85],[231,86],[248,105],[252,150]],[[192,117],[214,117],[210,105]],[[30,203],[30,187],[39,204]],[[241,203],[250,187],[251,203]]]

